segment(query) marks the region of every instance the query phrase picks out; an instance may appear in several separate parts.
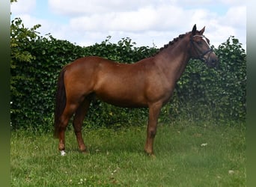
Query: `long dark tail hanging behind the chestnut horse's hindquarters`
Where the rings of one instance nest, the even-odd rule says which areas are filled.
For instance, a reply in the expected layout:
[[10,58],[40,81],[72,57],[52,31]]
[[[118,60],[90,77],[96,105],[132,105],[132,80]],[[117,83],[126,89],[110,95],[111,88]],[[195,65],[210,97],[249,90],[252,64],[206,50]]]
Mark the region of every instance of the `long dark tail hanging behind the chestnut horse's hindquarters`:
[[60,75],[58,76],[58,84],[57,84],[57,93],[56,93],[56,103],[55,103],[55,121],[54,121],[54,136],[58,138],[58,132],[60,128],[60,117],[64,111],[66,106],[66,91],[64,85],[64,73],[66,69],[65,67],[61,70]]

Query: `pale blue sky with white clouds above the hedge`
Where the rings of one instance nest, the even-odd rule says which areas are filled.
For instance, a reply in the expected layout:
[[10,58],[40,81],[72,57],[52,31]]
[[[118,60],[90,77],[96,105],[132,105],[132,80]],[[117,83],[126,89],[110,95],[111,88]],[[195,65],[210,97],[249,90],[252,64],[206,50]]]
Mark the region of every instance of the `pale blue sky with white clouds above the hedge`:
[[164,46],[179,34],[205,26],[204,35],[218,47],[236,37],[246,49],[244,0],[18,0],[10,20],[25,27],[40,24],[41,35],[52,34],[79,46],[117,43],[129,37],[136,46]]

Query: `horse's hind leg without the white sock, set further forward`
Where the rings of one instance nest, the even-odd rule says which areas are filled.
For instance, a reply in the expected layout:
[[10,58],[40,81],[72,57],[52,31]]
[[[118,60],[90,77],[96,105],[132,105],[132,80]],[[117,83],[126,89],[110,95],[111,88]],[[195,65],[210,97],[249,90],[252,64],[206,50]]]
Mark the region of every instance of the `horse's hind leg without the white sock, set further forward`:
[[85,147],[84,140],[82,138],[82,122],[88,111],[90,103],[90,99],[84,99],[84,101],[79,105],[79,108],[76,109],[76,114],[73,118],[73,127],[76,134],[76,140],[79,145],[79,150],[83,153],[86,153],[87,150]]

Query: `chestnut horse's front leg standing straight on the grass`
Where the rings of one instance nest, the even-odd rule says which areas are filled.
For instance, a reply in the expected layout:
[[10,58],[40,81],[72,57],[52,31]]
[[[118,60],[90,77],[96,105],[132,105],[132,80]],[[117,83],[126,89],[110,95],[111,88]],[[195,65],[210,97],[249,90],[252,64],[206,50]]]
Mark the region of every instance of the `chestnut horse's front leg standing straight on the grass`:
[[162,103],[154,103],[149,106],[149,117],[147,124],[147,139],[144,147],[144,151],[148,155],[153,155],[153,140],[156,136],[157,120],[160,114]]

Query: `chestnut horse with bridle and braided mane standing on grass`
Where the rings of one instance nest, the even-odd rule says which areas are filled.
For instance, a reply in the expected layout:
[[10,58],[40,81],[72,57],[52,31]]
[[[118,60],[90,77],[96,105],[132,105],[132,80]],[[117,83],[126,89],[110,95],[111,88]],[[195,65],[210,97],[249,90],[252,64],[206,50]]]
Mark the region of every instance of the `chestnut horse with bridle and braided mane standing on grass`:
[[[205,27],[204,27],[205,28]],[[190,58],[200,59],[209,67],[218,58],[204,37],[204,28],[180,34],[156,55],[134,64],[119,64],[97,56],[79,58],[67,64],[58,78],[55,105],[55,137],[65,154],[64,134],[70,117],[79,150],[86,152],[82,122],[93,98],[121,107],[148,107],[147,139],[144,151],[153,155],[153,139],[162,105],[171,99],[174,87]]]

